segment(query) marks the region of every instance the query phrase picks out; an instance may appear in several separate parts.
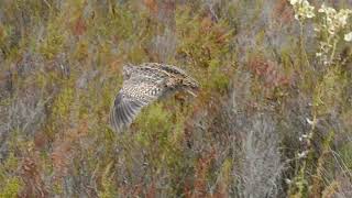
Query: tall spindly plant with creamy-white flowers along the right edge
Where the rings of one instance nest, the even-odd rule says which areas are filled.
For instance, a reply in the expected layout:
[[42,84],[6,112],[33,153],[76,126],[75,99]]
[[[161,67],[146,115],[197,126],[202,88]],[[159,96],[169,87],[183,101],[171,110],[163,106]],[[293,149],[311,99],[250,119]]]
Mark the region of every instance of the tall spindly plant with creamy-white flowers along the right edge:
[[[319,183],[309,184],[309,182],[307,182],[306,174],[310,174],[311,169],[307,169],[306,165],[310,161],[309,156],[316,157],[320,155],[315,146],[312,146],[316,142],[320,141],[317,139],[320,134],[316,134],[319,132],[318,125],[321,125],[321,121],[326,119],[326,114],[336,110],[333,108],[333,106],[336,106],[336,98],[343,96],[341,92],[344,90],[343,88],[340,88],[340,86],[343,87],[346,85],[344,77],[341,77],[341,72],[343,69],[342,65],[345,64],[351,56],[342,53],[342,48],[343,51],[345,50],[345,42],[352,41],[352,10],[336,10],[324,3],[322,3],[319,9],[316,9],[310,6],[307,0],[289,0],[289,3],[293,6],[295,19],[300,25],[299,61],[305,58],[309,69],[316,69],[316,67],[310,67],[310,62],[305,51],[304,28],[305,24],[309,22],[315,29],[318,43],[318,50],[315,57],[318,59],[317,63],[319,66],[323,66],[322,68],[315,70],[317,72],[318,78],[309,80],[305,79],[305,81],[302,81],[304,84],[314,86],[311,117],[306,118],[310,129],[298,138],[302,143],[302,150],[297,152],[297,158],[301,161],[302,164],[299,167],[300,174],[293,180],[286,180],[287,184],[289,184],[289,188],[295,193],[294,197],[304,197],[308,195],[306,193],[309,191],[308,189],[321,187]],[[309,19],[314,20],[308,21]],[[343,54],[345,57],[340,57],[339,54]],[[305,75],[305,73],[302,74]],[[306,74],[310,75],[311,73]],[[323,152],[330,151],[329,144],[332,141],[334,132],[332,131],[330,134],[327,138],[323,138],[323,142],[327,142],[327,144],[322,146]],[[323,154],[319,156],[317,173],[321,173],[320,170],[324,167],[322,163],[323,157]],[[320,178],[320,175],[318,175],[318,177]]]

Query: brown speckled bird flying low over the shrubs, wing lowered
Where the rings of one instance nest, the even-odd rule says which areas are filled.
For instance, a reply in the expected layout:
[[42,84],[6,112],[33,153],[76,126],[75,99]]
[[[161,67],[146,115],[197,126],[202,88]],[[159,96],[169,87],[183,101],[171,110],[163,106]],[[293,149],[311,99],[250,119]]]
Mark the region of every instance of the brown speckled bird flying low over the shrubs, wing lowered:
[[173,65],[144,63],[123,66],[123,85],[110,110],[110,123],[114,131],[127,129],[142,110],[155,100],[177,91],[196,97],[199,84]]

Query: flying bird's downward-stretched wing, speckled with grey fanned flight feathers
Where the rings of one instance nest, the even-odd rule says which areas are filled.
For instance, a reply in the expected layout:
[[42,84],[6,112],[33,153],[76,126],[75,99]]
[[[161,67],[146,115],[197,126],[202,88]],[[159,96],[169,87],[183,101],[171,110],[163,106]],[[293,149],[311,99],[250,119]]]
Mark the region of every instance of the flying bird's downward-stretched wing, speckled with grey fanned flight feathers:
[[158,99],[164,91],[163,78],[132,76],[123,81],[123,87],[117,95],[110,112],[110,122],[116,131],[128,128],[141,109]]

